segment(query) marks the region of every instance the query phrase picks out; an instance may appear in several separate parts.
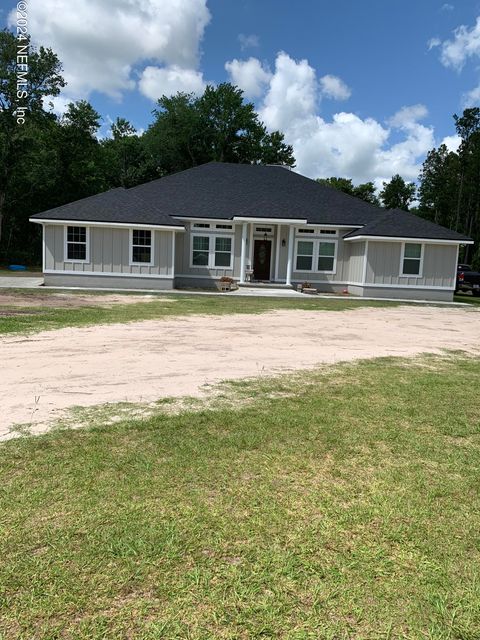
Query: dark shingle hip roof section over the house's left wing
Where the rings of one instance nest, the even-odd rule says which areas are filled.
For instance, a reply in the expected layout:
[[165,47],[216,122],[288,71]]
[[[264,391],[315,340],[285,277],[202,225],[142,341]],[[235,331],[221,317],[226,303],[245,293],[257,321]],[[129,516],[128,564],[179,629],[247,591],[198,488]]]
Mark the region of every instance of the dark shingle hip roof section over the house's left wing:
[[95,196],[37,213],[32,218],[71,220],[72,222],[117,222],[183,227],[158,208],[135,195],[130,189],[111,189]]

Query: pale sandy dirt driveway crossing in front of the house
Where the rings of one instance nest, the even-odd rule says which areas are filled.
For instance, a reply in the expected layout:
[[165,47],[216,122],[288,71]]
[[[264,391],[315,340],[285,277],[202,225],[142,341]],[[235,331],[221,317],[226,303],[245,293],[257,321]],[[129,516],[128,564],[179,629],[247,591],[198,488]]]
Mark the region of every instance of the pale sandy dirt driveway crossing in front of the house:
[[480,355],[480,314],[438,307],[186,316],[0,338],[0,439],[75,405],[199,395],[206,383],[442,349]]

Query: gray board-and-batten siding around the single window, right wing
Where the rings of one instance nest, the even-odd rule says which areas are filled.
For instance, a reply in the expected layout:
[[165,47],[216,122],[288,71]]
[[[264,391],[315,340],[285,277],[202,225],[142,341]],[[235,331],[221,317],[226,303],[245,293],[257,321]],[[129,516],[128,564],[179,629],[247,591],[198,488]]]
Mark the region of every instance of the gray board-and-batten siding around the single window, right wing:
[[[415,240],[412,239],[412,243]],[[354,243],[355,244],[355,243]],[[366,284],[455,287],[457,246],[447,244],[423,245],[422,277],[400,275],[403,242],[368,241]]]

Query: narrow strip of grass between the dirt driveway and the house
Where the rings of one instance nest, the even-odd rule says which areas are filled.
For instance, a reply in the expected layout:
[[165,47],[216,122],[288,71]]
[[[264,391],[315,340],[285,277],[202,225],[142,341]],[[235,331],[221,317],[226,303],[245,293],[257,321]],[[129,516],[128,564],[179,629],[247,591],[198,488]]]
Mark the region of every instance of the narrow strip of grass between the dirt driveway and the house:
[[[28,300],[45,295],[45,291],[24,290],[16,292]],[[70,292],[69,292],[70,293]],[[81,292],[85,295],[85,292]],[[99,295],[96,294],[95,298]],[[81,327],[112,322],[133,322],[135,320],[162,319],[172,316],[192,314],[229,314],[229,313],[263,313],[273,309],[303,309],[307,311],[343,311],[358,307],[387,307],[396,303],[381,301],[328,300],[324,298],[253,298],[204,295],[175,295],[159,296],[152,302],[138,302],[136,304],[112,304],[108,308],[94,306],[56,308],[55,298],[52,296],[51,306],[31,307],[21,311],[18,307],[0,306],[0,334],[31,333],[62,327]]]

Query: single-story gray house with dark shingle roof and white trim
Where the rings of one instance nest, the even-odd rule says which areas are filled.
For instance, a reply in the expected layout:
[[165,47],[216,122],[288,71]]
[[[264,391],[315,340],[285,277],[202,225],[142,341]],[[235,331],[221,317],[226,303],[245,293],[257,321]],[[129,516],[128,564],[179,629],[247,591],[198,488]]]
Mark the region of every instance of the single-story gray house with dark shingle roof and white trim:
[[212,162],[31,217],[50,286],[211,287],[222,276],[452,300],[472,240],[281,166]]

